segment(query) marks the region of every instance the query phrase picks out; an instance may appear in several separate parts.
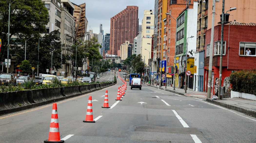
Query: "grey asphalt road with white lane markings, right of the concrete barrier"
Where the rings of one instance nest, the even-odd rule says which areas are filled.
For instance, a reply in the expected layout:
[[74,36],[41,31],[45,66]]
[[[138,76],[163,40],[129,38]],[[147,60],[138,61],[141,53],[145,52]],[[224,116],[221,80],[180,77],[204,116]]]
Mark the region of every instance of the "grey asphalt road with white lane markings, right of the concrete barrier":
[[[115,101],[122,84],[118,79],[111,87],[57,102],[60,138],[72,143],[256,142],[253,117],[145,85],[131,90],[128,84],[122,101]],[[111,108],[101,108],[106,90]],[[89,96],[95,123],[83,122]],[[0,116],[0,142],[44,142],[51,112],[52,103]]]

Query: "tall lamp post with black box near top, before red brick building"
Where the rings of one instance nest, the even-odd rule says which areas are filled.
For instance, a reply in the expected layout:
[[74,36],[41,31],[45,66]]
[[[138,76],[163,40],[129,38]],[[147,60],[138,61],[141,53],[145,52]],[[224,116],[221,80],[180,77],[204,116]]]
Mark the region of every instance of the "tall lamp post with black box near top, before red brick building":
[[[224,31],[224,19],[226,19],[227,16],[227,12],[228,11],[232,11],[232,10],[236,10],[236,7],[230,8],[225,15],[224,18],[224,7],[225,7],[225,0],[223,0],[223,4],[222,4],[222,19],[221,19],[221,40],[220,40],[220,72],[219,72],[219,88],[221,87],[221,79],[222,79],[222,55],[223,55],[223,31]],[[220,90],[219,90],[220,91]],[[220,92],[218,94],[219,98],[220,98]]]

